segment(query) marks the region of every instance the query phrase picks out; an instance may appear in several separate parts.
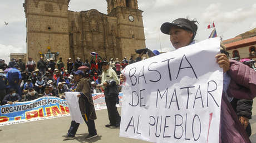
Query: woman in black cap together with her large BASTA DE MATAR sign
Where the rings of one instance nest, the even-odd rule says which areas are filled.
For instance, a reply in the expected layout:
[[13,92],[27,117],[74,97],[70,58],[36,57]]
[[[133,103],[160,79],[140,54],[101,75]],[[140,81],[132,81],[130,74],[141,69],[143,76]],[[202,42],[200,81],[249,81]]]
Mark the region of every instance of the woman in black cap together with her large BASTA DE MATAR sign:
[[[170,35],[176,49],[184,48],[127,66],[120,136],[151,142],[250,142],[227,101],[228,94],[221,96],[235,95],[229,83],[223,83],[219,67],[229,71],[224,79],[233,79],[235,72],[227,56],[219,54],[220,40],[193,44],[196,30],[195,21],[189,19],[164,23],[161,31]],[[235,64],[246,68],[232,61]],[[244,86],[255,93],[252,77],[247,79],[253,82]]]

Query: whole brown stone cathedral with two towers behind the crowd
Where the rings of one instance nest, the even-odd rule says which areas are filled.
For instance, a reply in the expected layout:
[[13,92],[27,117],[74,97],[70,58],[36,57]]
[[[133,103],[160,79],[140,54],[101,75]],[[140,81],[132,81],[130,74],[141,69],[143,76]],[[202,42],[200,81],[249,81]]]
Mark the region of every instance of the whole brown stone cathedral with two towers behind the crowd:
[[104,14],[96,9],[69,11],[70,0],[24,0],[27,57],[35,61],[40,56],[64,61],[80,57],[84,61],[96,52],[102,58],[129,58],[135,49],[145,48],[137,0],[106,2]]

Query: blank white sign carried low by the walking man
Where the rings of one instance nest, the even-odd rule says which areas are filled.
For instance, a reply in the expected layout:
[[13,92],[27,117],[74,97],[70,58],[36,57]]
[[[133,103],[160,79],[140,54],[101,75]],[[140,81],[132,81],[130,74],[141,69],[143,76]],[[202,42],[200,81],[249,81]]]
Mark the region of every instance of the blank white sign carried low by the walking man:
[[79,108],[79,103],[77,95],[80,94],[79,92],[65,92],[66,100],[68,104],[68,108],[70,109],[70,115],[72,121],[76,121],[80,124],[83,124],[82,114]]

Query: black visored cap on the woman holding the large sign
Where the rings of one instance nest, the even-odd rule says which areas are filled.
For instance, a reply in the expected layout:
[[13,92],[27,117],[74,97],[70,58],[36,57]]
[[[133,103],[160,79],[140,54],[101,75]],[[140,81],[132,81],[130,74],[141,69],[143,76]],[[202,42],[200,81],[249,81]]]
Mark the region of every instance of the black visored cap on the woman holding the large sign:
[[180,27],[185,30],[190,30],[194,34],[193,39],[196,35],[196,31],[198,30],[198,25],[196,25],[193,21],[190,21],[186,18],[178,18],[175,19],[173,22],[165,22],[164,24],[162,24],[161,32],[169,35],[170,28],[173,26]]

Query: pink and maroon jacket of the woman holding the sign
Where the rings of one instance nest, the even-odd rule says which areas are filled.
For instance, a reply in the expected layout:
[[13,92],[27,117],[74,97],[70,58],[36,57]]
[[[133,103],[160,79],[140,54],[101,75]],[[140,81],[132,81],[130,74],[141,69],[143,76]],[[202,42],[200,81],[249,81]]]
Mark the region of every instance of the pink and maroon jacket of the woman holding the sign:
[[[237,99],[253,99],[256,96],[256,72],[243,63],[230,60],[228,74],[231,78],[227,90],[230,97]],[[222,96],[220,113],[220,142],[250,142],[244,127],[240,124],[231,104]]]

